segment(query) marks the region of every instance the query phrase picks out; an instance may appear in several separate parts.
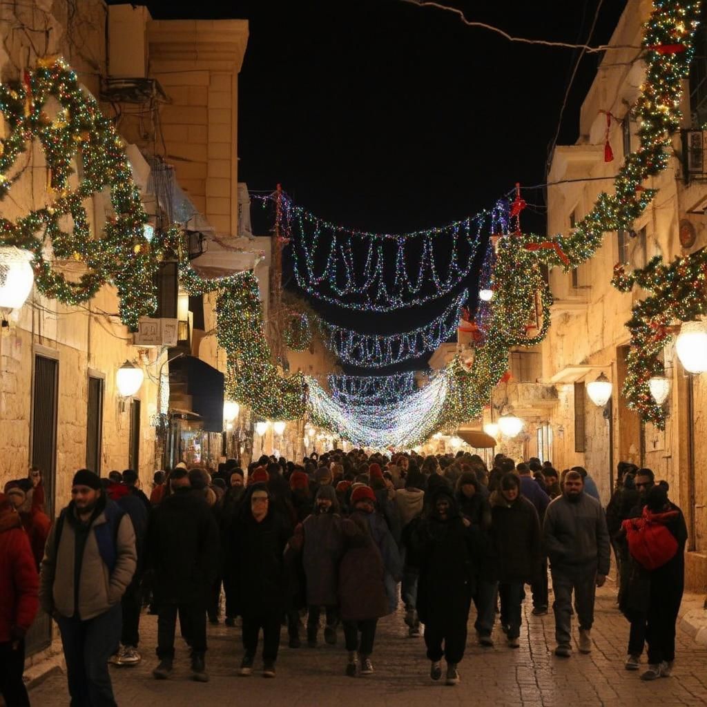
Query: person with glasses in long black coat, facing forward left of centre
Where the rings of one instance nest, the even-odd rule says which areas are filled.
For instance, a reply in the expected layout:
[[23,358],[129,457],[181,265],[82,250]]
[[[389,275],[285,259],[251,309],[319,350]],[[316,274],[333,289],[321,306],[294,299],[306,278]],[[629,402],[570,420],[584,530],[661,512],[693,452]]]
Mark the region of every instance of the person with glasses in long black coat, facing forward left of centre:
[[265,484],[247,490],[233,524],[230,573],[235,582],[237,612],[243,617],[243,676],[252,673],[258,636],[263,633],[263,676],[275,677],[288,585],[284,549],[289,525],[274,508]]

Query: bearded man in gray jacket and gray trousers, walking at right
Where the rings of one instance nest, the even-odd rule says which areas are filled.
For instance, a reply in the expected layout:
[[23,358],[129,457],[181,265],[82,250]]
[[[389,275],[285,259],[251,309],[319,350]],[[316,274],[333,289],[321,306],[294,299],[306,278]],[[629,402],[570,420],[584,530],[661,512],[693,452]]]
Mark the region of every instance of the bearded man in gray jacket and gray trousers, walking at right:
[[572,592],[579,619],[579,650],[590,653],[596,588],[609,573],[609,531],[599,501],[585,493],[579,472],[568,472],[562,496],[547,507],[543,535],[555,592],[555,655],[572,655]]

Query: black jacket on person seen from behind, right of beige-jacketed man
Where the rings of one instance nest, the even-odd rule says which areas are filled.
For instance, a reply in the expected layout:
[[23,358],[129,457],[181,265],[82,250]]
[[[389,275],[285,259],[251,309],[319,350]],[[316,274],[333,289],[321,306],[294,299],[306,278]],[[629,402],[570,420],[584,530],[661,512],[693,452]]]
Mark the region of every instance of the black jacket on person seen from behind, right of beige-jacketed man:
[[148,545],[158,604],[206,605],[218,569],[218,527],[201,491],[177,489],[160,503]]

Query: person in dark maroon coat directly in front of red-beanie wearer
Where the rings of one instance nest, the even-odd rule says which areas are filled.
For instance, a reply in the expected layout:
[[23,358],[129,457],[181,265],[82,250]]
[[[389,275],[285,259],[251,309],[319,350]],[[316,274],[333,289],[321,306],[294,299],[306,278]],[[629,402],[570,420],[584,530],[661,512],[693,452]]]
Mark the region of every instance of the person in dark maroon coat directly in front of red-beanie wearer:
[[346,674],[370,675],[375,629],[378,619],[388,613],[385,567],[361,515],[344,520],[341,528],[345,550],[339,564],[339,612],[349,651]]

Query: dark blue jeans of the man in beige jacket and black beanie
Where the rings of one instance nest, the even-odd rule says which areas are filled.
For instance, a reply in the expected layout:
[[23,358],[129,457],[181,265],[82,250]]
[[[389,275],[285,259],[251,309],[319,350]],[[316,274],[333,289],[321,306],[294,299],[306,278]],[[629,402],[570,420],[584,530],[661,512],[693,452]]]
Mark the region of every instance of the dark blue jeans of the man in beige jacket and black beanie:
[[71,707],[114,707],[108,658],[120,640],[120,604],[87,621],[59,616],[57,623],[62,633]]

